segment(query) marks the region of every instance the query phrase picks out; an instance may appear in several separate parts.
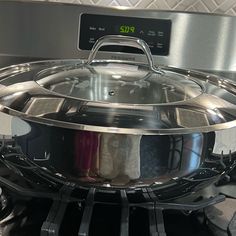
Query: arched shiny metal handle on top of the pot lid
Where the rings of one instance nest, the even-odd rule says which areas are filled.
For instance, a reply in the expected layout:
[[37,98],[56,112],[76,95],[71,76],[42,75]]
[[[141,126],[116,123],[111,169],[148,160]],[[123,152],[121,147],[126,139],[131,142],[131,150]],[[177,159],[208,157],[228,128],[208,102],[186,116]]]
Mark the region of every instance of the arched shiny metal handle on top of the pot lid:
[[89,65],[93,62],[98,50],[101,47],[108,46],[108,45],[129,46],[129,47],[141,49],[147,57],[147,61],[148,61],[148,65],[150,69],[157,73],[162,73],[162,71],[159,68],[155,67],[150,48],[144,40],[136,38],[136,37],[129,37],[129,36],[123,36],[123,35],[106,35],[99,38],[95,42],[95,44],[93,45],[90,51],[87,64]]

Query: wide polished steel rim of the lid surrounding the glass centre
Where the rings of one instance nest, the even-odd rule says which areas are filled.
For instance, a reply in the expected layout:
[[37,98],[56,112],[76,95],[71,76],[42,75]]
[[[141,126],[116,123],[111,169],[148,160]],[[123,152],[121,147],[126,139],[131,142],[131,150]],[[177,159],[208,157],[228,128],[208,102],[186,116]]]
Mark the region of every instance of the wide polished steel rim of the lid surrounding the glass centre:
[[[116,62],[113,61],[112,63]],[[178,92],[184,90],[179,90],[178,86],[174,86],[174,89],[172,87],[164,89],[163,81],[160,80],[155,90],[150,90],[151,97],[147,96],[147,101],[153,100],[155,94],[166,97],[161,98],[162,100],[157,98],[156,101],[161,101],[161,103],[154,104],[146,104],[145,100],[140,104],[133,104],[137,97],[123,97],[115,94],[110,96],[110,101],[109,99],[104,101],[104,96],[100,97],[103,99],[102,101],[92,100],[86,93],[84,94],[85,99],[72,98],[58,95],[58,93],[39,86],[39,82],[34,81],[37,78],[35,75],[40,74],[41,71],[47,71],[49,74],[49,77],[45,77],[47,81],[51,75],[58,72],[58,68],[73,69],[81,66],[81,63],[83,61],[79,60],[49,61],[27,63],[2,69],[0,71],[1,111],[34,122],[63,128],[136,135],[211,132],[229,129],[236,125],[235,84],[214,75],[161,67],[165,72],[164,75],[172,76],[172,81],[174,78],[176,81],[180,80],[179,87],[182,85],[184,89],[184,86],[188,85],[190,81],[190,88],[192,83],[194,86],[198,84],[202,88],[202,93],[199,94],[199,90],[193,89],[196,95],[190,93],[191,96],[188,97],[185,96],[185,93],[180,93],[182,94],[181,98],[177,96]],[[142,67],[138,63],[133,63],[133,65]],[[64,77],[62,78],[64,79]],[[181,81],[182,78],[183,81]],[[112,81],[114,81],[113,79]],[[159,77],[155,79],[159,81]],[[106,88],[103,81],[105,80],[102,78],[96,80],[96,83],[92,84],[91,90],[88,91],[92,91],[92,94],[95,95],[98,94],[100,90],[94,90],[94,87],[97,85],[99,88]],[[176,81],[173,82],[173,85]],[[75,83],[73,80],[71,82],[67,80],[67,85],[71,90],[71,86],[73,87]],[[162,92],[158,90],[158,86]],[[199,86],[197,87],[199,88]],[[176,91],[175,88],[177,88]],[[189,93],[191,90],[188,88],[187,86],[185,90]],[[130,95],[129,89],[124,91],[126,92],[124,94]],[[138,95],[141,95],[142,92],[143,90]],[[173,96],[175,100],[171,102]],[[91,101],[86,100],[88,98]],[[126,99],[123,100],[126,103],[119,100],[122,98]],[[138,101],[140,100],[142,99],[139,98]],[[117,101],[121,103],[117,103]],[[47,105],[45,106],[45,104]]]

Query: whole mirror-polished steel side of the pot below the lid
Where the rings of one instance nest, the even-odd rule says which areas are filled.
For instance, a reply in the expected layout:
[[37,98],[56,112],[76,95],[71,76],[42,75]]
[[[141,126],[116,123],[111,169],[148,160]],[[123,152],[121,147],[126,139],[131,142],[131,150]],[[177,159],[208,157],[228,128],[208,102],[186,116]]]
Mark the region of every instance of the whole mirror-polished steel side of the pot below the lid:
[[[0,119],[2,115],[6,116],[0,113]],[[151,187],[160,191],[161,199],[170,199],[209,185],[236,165],[236,154],[230,150],[212,152],[214,132],[121,135],[64,129],[7,116],[10,135],[0,139],[0,160],[26,177],[35,170],[79,186]],[[2,127],[0,132],[3,134]]]

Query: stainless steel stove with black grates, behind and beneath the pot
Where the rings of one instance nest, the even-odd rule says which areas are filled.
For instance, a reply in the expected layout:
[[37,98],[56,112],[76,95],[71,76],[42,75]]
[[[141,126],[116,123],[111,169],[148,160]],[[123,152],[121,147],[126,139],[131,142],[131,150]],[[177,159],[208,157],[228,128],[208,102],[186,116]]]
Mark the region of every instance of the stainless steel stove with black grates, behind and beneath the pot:
[[[1,1],[0,32],[2,68],[52,59],[86,60],[100,37],[122,35],[144,40],[155,65],[198,70],[225,78],[233,85],[236,82],[236,17],[232,16]],[[103,47],[96,59],[146,62],[139,49],[122,45]],[[3,89],[1,83],[0,89]],[[3,159],[13,159],[14,151],[15,157],[19,156],[16,143],[12,144],[14,151],[11,149],[10,153],[1,149],[5,142],[13,140],[11,122],[6,115],[0,116]],[[37,142],[27,145],[28,149],[36,150],[34,155],[49,158],[44,148],[51,148],[47,146],[51,131],[43,132],[43,138],[39,136]],[[225,156],[234,160],[235,133],[236,128],[232,128],[214,134],[216,142],[210,152],[221,166]],[[61,157],[63,148],[60,150],[57,155]],[[63,152],[63,155],[67,154]],[[172,162],[170,165],[175,160]],[[40,175],[30,166],[23,167],[22,175],[19,160],[17,163],[15,166],[11,161],[0,163],[3,235],[236,235],[235,161],[227,175],[196,193],[191,191],[190,195],[184,193],[197,180],[173,178],[175,183],[182,182],[170,185],[172,198],[166,201],[146,186],[127,191],[77,187],[73,182],[58,183],[45,174]],[[165,191],[162,196],[166,196]],[[182,197],[175,199],[179,191]]]

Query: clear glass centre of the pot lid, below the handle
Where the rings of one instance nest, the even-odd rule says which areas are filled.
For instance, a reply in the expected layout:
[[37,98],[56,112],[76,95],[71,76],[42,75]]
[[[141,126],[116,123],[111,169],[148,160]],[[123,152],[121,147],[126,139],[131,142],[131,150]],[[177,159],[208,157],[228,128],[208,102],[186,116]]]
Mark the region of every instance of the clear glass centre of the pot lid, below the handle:
[[93,62],[51,73],[51,69],[42,71],[35,81],[58,95],[90,102],[166,104],[186,101],[203,92],[187,76],[127,62]]

